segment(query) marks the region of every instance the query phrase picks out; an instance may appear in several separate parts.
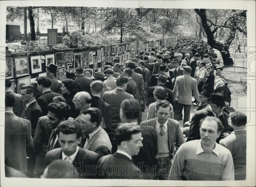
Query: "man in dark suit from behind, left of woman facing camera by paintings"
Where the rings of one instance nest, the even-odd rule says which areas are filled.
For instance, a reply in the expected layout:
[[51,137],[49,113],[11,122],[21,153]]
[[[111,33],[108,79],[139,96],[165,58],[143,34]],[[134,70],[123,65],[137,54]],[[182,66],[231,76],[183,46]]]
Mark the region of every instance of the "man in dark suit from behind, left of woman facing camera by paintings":
[[84,92],[88,92],[89,94],[91,94],[90,83],[92,82],[92,79],[83,75],[82,67],[77,67],[75,74],[77,76],[75,81],[81,85]]

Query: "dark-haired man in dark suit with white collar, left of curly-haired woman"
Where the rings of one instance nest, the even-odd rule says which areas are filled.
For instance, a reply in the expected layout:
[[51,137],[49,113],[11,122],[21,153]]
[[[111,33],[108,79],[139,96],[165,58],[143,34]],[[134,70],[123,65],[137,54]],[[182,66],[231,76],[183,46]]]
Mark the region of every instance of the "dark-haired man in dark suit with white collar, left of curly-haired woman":
[[41,107],[42,116],[46,116],[48,113],[47,105],[52,102],[52,98],[62,95],[50,90],[51,80],[47,76],[39,77],[36,81],[37,88],[42,93],[42,95],[37,99],[37,103]]

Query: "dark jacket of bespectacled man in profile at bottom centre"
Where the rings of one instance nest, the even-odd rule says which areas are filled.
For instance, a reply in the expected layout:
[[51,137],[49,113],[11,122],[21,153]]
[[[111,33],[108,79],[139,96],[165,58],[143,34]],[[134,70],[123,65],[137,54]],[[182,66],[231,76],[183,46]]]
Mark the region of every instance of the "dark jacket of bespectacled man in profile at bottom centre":
[[[133,161],[117,152],[101,157],[97,166],[103,166],[98,168],[97,173],[102,173],[102,175],[98,175],[97,178],[99,179],[142,179],[142,175],[139,175],[141,171],[134,165]],[[113,170],[115,171],[114,174],[112,174]]]

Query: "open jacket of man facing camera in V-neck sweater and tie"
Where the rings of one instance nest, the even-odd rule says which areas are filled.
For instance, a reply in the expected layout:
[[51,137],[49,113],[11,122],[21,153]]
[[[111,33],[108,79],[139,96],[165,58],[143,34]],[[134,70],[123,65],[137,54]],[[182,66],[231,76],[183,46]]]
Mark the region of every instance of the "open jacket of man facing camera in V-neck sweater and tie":
[[[141,122],[141,125],[146,127],[149,126],[149,127],[156,128],[156,120],[157,118],[149,119],[144,122]],[[174,158],[178,148],[184,143],[183,133],[180,130],[179,122],[176,121],[175,119],[168,118],[167,128],[168,128],[168,147],[170,151],[170,156]]]

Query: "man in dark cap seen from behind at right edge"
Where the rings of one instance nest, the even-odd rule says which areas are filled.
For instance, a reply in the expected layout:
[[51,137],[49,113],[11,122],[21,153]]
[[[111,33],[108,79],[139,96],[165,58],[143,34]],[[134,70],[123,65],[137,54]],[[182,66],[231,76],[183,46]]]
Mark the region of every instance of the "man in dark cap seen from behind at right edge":
[[234,131],[220,140],[220,145],[230,150],[233,157],[235,180],[246,179],[246,123],[247,116],[242,112],[231,115]]

